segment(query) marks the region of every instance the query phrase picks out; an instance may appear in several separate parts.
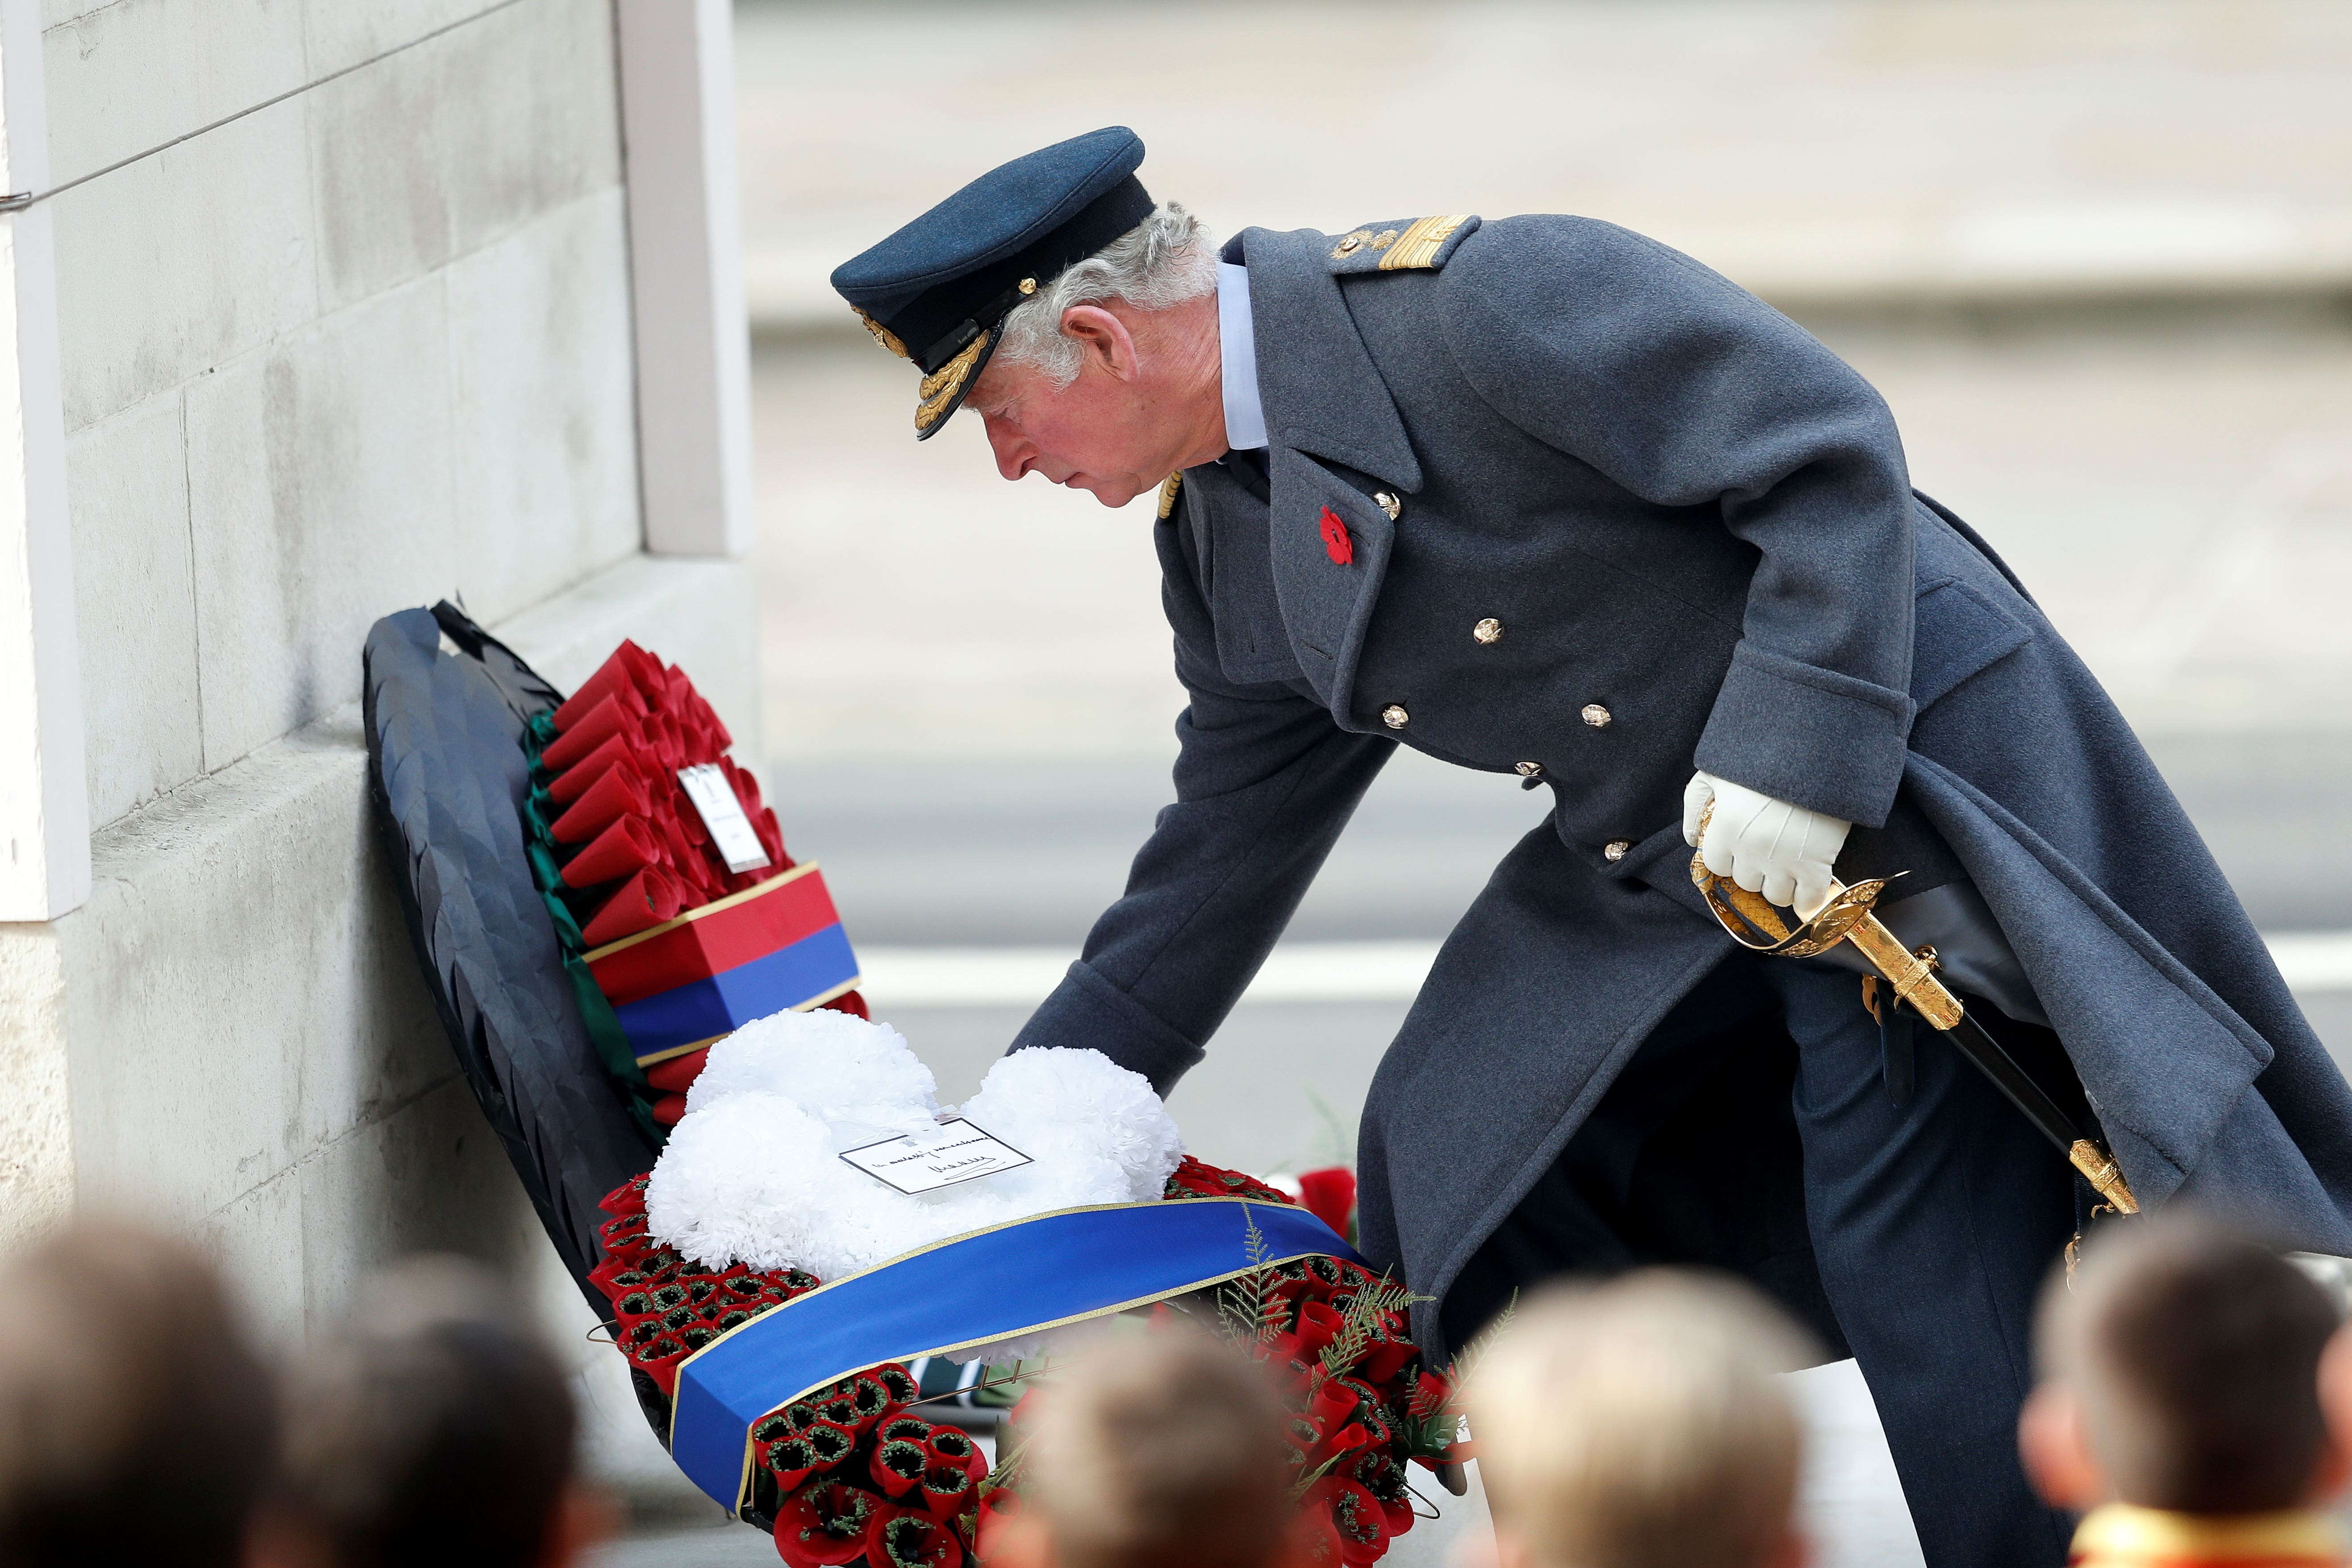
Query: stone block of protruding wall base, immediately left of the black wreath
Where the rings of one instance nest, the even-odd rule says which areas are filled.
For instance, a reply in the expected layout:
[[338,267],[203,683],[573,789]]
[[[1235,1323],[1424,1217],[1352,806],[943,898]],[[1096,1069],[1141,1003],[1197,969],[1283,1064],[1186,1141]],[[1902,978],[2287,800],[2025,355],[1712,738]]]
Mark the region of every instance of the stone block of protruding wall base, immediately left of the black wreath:
[[96,835],[96,891],[56,922],[78,1204],[193,1229],[268,1208],[449,1081],[365,766],[346,710]]

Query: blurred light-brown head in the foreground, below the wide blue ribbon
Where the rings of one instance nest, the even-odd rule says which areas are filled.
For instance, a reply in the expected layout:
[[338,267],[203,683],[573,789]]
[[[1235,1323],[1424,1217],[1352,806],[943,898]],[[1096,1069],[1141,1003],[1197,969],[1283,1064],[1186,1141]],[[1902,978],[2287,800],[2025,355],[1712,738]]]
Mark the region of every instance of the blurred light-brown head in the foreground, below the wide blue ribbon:
[[1023,1427],[1025,1507],[990,1568],[1270,1568],[1289,1544],[1282,1406],[1200,1333],[1101,1338]]

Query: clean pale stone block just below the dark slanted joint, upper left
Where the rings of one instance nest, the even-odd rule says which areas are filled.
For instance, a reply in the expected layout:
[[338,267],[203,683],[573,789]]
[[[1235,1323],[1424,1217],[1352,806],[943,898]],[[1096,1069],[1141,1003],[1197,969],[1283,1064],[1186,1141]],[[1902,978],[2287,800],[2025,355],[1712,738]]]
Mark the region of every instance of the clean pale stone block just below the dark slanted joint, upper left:
[[299,99],[66,190],[52,209],[68,433],[318,315]]

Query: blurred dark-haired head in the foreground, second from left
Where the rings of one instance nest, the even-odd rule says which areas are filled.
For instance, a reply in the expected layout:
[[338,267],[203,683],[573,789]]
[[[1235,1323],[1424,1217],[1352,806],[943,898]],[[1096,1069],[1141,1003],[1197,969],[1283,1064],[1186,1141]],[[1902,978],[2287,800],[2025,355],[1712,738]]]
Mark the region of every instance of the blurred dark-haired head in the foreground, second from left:
[[576,1486],[564,1368],[482,1269],[367,1286],[287,1378],[273,1568],[560,1568],[604,1533]]

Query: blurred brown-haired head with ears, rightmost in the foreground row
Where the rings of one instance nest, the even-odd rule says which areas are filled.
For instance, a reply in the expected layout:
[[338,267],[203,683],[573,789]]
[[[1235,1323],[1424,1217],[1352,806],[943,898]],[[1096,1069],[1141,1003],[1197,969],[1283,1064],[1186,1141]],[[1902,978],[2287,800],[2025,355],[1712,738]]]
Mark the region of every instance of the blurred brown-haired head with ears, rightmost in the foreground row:
[[2124,1502],[2265,1514],[2307,1500],[2326,1455],[2319,1356],[2336,1309],[2303,1269],[2216,1218],[2107,1227],[2042,1298],[2037,1356],[2082,1408]]

